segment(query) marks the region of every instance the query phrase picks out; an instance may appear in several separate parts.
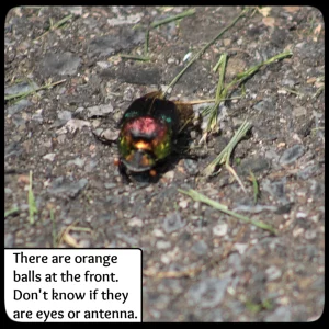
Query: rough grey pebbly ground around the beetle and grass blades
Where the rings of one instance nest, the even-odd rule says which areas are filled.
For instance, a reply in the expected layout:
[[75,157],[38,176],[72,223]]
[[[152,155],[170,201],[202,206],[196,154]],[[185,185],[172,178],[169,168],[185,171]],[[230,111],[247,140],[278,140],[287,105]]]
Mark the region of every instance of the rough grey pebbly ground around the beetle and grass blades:
[[[213,99],[218,82],[213,68],[220,54],[229,56],[229,82],[276,54],[293,53],[246,81],[242,98],[219,106],[219,133],[203,146],[205,157],[171,160],[156,182],[124,183],[114,166],[115,144],[95,137],[103,129],[115,136],[113,123],[134,99],[168,86],[188,54],[195,55],[242,11],[197,7],[195,14],[150,31],[149,61],[118,56],[143,56],[146,27],[188,9],[31,7],[8,13],[5,95],[58,83],[5,102],[4,209],[10,213],[4,246],[141,248],[144,321],[316,320],[325,303],[325,25],[319,10],[251,9],[174,86],[170,99]],[[251,133],[231,162],[243,193],[224,168],[207,180],[201,172],[246,117]],[[191,133],[195,144],[200,137]],[[257,204],[250,171],[261,192]],[[270,224],[277,235],[194,202],[179,188]]]

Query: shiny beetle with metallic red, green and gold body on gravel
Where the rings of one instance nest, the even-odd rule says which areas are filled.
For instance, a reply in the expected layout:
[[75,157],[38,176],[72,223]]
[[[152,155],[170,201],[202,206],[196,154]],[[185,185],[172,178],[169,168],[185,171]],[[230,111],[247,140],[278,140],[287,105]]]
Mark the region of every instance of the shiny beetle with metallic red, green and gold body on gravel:
[[154,168],[173,150],[182,116],[186,112],[190,116],[193,114],[191,106],[183,105],[164,100],[160,91],[148,93],[129,105],[118,122],[120,159],[116,163],[121,172],[156,174]]

